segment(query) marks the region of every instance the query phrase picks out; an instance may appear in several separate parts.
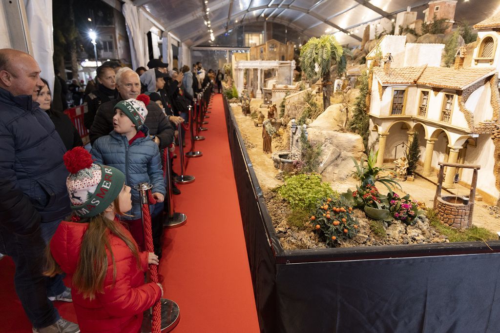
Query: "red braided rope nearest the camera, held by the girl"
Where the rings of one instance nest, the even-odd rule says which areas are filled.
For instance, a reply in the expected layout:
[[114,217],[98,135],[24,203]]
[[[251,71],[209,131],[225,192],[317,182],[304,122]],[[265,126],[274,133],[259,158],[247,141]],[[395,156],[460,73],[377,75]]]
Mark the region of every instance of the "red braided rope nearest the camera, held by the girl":
[[[149,201],[154,204],[156,200],[151,195],[151,191],[147,191]],[[152,200],[151,200],[152,199]],[[151,231],[151,215],[149,214],[149,205],[142,205],[142,217],[144,221],[144,241],[147,252],[154,252],[153,237]],[[149,265],[149,279],[152,283],[158,283],[158,267],[156,265]],[[161,302],[156,302],[153,305],[153,317],[151,323],[151,333],[161,332]]]

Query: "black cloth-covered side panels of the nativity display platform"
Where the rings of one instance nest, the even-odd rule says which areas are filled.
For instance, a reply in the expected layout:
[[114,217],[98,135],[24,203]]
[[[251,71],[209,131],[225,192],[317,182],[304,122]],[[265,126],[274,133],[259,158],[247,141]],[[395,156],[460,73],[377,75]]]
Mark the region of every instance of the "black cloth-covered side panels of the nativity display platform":
[[499,331],[498,241],[285,251],[223,99],[261,332]]

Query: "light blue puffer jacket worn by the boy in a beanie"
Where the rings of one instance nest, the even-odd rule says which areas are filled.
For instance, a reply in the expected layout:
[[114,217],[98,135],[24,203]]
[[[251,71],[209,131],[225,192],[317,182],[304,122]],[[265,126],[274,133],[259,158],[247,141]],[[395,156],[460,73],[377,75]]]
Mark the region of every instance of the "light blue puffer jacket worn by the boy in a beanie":
[[[120,217],[124,220],[139,219],[141,216],[139,192],[133,185],[146,182],[153,186],[151,193],[166,193],[158,146],[149,138],[149,130],[145,125],[141,131],[145,137],[135,139],[131,145],[126,136],[111,131],[109,135],[95,140],[90,150],[95,163],[109,165],[123,172],[125,184],[132,188],[132,209],[127,212],[132,216]],[[152,205],[149,209],[152,212]]]

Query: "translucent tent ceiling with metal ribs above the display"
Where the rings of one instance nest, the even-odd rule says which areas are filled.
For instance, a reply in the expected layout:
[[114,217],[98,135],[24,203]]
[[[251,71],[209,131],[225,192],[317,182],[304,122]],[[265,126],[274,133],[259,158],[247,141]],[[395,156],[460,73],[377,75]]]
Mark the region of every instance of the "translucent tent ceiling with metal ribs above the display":
[[[224,33],[247,22],[264,21],[287,25],[306,35],[321,35],[326,29],[338,31],[342,44],[361,40],[356,29],[383,17],[392,19],[411,6],[419,16],[429,0],[134,0],[156,17],[166,30],[187,45],[196,45],[209,38],[204,24],[205,9],[213,34]],[[458,0],[455,20],[474,24],[500,11],[500,0]],[[358,30],[357,32],[354,32]],[[347,35],[350,33],[350,35]]]

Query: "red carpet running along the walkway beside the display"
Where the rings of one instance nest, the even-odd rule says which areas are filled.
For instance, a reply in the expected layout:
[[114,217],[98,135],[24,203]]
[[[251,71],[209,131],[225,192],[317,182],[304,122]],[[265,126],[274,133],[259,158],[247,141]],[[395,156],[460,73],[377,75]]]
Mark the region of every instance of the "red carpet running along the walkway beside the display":
[[[172,332],[259,332],[220,94],[209,116],[208,131],[201,132],[206,140],[196,142],[203,156],[191,158],[185,172],[196,180],[179,185],[182,194],[174,196],[175,211],[186,214],[187,223],[163,234],[164,297],[180,309]],[[174,161],[179,172],[179,158]],[[0,332],[31,332],[13,271],[9,258],[0,261]],[[54,304],[62,317],[76,320],[70,303]]]

